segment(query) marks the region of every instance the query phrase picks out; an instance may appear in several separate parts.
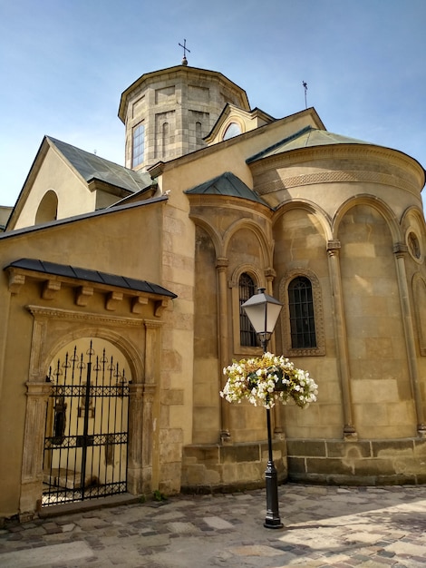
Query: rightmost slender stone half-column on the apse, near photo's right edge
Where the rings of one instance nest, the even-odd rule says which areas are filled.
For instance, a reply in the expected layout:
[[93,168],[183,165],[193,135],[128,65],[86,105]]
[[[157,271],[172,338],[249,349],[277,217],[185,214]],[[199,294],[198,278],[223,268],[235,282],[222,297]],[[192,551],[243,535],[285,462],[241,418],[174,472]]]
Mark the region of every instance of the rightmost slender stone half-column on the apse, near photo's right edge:
[[417,417],[417,434],[426,437],[426,424],[424,422],[423,405],[421,401],[421,387],[419,383],[419,371],[417,367],[416,346],[414,339],[413,321],[411,316],[410,294],[407,284],[407,272],[405,269],[404,256],[408,251],[407,245],[397,243],[393,247],[396,260],[396,272],[398,278],[398,288],[400,291],[400,301],[402,309],[402,326],[404,330],[405,348],[407,350],[407,362],[410,373],[412,396]]

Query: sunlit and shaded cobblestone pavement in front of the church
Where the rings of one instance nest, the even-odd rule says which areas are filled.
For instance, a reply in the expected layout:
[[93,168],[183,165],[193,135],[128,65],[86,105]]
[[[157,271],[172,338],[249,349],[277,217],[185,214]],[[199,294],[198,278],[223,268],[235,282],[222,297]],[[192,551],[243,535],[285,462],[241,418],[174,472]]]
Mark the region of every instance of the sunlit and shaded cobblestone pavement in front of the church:
[[417,568],[426,566],[426,486],[278,489],[169,498],[62,514],[0,530],[2,568]]

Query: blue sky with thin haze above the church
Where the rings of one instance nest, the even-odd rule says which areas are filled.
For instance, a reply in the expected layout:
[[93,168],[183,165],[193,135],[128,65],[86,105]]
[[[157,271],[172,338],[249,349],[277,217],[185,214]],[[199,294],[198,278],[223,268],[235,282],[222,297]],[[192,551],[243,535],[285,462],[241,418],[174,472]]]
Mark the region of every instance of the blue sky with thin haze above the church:
[[121,93],[180,64],[225,74],[276,118],[325,127],[426,166],[424,0],[0,0],[0,205],[44,134],[124,162]]

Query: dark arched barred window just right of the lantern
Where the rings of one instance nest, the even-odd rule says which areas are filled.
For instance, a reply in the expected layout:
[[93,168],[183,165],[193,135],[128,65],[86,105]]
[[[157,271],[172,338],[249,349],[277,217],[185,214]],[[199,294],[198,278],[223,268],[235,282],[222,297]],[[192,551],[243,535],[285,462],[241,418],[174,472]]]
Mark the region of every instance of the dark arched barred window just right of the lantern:
[[288,286],[291,345],[294,349],[315,348],[315,316],[311,281],[298,276]]

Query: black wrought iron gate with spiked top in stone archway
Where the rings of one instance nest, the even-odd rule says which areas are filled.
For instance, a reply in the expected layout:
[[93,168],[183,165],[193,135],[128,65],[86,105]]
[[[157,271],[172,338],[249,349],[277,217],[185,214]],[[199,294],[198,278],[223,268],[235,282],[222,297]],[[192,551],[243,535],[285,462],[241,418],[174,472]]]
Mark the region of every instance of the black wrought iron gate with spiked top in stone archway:
[[49,369],[43,505],[127,490],[129,382],[107,357],[66,353]]

